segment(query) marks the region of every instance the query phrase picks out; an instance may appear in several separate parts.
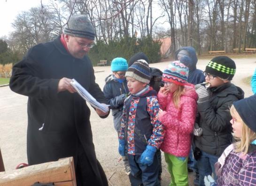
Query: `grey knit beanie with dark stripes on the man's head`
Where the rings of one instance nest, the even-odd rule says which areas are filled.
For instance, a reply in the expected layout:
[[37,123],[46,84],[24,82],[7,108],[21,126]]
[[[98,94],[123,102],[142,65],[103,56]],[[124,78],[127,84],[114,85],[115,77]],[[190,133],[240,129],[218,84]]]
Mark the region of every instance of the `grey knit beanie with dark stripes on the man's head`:
[[91,40],[95,38],[93,24],[85,15],[72,15],[63,33],[75,37],[85,37]]

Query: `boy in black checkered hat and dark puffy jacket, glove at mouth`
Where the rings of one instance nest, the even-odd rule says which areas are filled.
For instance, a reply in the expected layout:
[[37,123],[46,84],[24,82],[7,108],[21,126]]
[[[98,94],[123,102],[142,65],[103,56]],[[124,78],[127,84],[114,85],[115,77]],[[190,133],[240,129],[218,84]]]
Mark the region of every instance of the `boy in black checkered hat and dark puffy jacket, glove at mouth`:
[[214,164],[224,149],[232,143],[232,127],[229,123],[231,115],[229,107],[234,101],[243,98],[243,91],[230,81],[235,74],[236,66],[232,59],[226,56],[213,58],[205,68],[205,80],[209,89],[198,84],[195,86],[198,94],[197,123],[202,133],[194,136],[196,149],[194,157],[199,169],[200,186],[204,186],[204,176],[214,173]]

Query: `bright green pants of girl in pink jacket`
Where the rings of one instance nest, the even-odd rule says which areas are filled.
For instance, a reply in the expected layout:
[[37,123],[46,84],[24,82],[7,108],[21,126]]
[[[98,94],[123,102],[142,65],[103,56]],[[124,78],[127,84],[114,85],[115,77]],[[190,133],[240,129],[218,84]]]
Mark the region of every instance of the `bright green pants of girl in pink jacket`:
[[169,186],[188,186],[187,157],[185,161],[182,161],[176,156],[164,153],[164,158],[171,174]]

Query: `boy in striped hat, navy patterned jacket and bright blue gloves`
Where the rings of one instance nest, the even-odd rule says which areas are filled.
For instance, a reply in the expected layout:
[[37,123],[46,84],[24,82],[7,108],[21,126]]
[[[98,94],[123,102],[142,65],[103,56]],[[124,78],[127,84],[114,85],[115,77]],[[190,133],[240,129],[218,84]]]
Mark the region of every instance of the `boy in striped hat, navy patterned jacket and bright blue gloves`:
[[124,101],[118,151],[122,156],[125,149],[128,151],[132,186],[159,186],[159,162],[155,152],[163,142],[164,130],[158,121],[156,91],[148,86],[147,62],[135,61],[125,77],[131,95]]

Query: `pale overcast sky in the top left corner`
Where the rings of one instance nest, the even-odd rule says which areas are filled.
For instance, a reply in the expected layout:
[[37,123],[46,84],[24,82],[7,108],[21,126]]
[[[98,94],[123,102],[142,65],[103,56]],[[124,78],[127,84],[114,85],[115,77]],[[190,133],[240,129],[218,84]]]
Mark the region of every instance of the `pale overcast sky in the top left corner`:
[[[42,2],[45,3],[47,0]],[[8,36],[8,33],[13,30],[11,23],[16,15],[39,5],[41,0],[0,0],[0,37]]]

